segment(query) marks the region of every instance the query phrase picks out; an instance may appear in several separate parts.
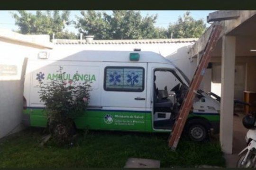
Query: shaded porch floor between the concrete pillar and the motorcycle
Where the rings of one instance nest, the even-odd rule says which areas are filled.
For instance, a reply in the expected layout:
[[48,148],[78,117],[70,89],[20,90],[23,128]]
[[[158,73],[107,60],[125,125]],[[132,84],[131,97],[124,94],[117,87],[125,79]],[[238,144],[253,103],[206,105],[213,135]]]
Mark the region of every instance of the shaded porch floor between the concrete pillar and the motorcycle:
[[234,115],[233,124],[233,154],[225,154],[227,168],[236,168],[240,153],[246,147],[245,136],[248,131],[242,124],[242,119],[245,116],[242,112],[236,112],[238,116]]

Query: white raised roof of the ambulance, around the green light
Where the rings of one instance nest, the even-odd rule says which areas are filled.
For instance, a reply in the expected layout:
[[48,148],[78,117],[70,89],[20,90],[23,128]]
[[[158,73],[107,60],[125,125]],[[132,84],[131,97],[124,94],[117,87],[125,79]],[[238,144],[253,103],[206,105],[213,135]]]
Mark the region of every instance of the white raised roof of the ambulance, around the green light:
[[[130,61],[130,53],[139,53],[138,61]],[[50,51],[50,60],[66,60],[66,61],[99,61],[99,62],[171,62],[165,57],[151,51]]]

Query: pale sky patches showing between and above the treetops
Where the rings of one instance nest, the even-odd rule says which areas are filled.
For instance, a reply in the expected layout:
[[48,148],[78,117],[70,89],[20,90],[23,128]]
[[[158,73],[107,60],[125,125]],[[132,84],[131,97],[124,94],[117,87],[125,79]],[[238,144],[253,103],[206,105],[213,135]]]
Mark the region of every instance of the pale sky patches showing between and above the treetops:
[[[15,25],[15,20],[11,16],[11,12],[8,10],[0,10],[0,28],[9,29],[9,30],[18,30],[18,26]],[[33,14],[36,13],[36,11],[28,11]],[[111,14],[112,11],[106,10],[107,14]],[[148,15],[155,15],[157,14],[157,20],[155,23],[155,26],[158,27],[164,27],[167,28],[170,23],[175,23],[179,16],[183,16],[183,14],[186,12],[186,10],[140,10],[141,15],[145,17]],[[206,17],[209,13],[214,12],[214,10],[190,10],[191,16],[194,19],[203,19],[205,23]],[[70,19],[76,20],[76,17],[81,17],[79,10],[71,10]],[[207,26],[210,26],[207,24]],[[77,33],[77,29],[74,26],[67,26],[66,29],[68,31]]]

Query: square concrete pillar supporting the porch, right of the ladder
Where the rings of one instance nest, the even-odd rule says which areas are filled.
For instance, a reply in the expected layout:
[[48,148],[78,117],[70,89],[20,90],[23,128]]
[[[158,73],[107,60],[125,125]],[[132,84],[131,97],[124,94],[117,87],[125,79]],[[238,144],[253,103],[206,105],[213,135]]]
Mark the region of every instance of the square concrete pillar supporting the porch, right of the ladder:
[[232,154],[236,37],[222,37],[219,139],[222,151]]

